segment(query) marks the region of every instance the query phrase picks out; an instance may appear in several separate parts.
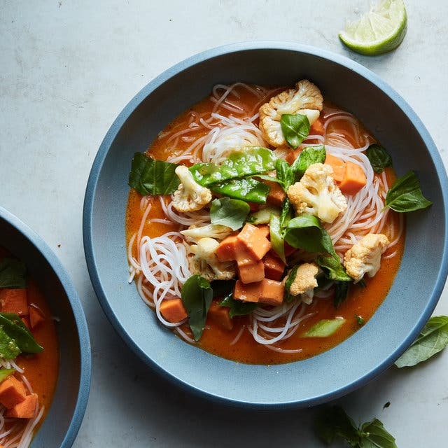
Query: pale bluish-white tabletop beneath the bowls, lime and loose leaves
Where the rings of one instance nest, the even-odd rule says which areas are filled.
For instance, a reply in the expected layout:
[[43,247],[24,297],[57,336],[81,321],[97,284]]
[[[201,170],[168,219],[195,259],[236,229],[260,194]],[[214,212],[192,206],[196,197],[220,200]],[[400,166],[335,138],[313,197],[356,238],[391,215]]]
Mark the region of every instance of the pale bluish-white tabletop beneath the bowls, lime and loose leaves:
[[[149,80],[196,52],[255,39],[316,45],[378,73],[419,114],[446,164],[448,3],[405,3],[404,43],[368,58],[337,39],[344,18],[367,0],[0,1],[0,204],[62,260],[92,338],[90,402],[76,448],[320,446],[311,430],[314,409],[211,404],[168,384],[127,350],[87,275],[85,183],[104,134]],[[448,314],[446,288],[436,314]],[[391,368],[339,402],[356,421],[377,416],[399,447],[446,446],[447,370],[445,351],[413,370]]]

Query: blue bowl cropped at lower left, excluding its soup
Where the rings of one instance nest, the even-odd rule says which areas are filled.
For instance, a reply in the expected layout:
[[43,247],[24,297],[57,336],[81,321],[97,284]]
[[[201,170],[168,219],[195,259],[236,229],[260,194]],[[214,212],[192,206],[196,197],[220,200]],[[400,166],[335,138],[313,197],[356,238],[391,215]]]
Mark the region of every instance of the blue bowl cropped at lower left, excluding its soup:
[[36,232],[0,207],[0,246],[27,265],[57,323],[59,377],[52,405],[32,448],[69,448],[78,433],[90,388],[90,338],[83,307],[61,262]]

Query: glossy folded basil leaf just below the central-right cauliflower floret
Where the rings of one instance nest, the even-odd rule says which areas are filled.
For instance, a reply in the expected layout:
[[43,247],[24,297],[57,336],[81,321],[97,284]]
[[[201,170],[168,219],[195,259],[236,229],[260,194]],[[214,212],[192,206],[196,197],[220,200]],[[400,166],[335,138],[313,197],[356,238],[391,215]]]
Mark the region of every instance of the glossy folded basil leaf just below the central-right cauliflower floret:
[[308,252],[335,253],[330,235],[313,215],[302,214],[291,219],[286,226],[285,241]]

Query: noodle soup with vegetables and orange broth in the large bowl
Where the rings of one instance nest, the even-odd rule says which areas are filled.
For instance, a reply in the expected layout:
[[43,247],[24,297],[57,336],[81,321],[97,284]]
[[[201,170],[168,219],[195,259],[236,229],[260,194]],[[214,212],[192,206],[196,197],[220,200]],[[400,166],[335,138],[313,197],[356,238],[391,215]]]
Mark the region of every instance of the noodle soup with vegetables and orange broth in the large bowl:
[[[204,188],[197,197],[211,190],[202,207],[179,205],[188,173],[179,176],[179,193],[130,190],[130,282],[179,337],[238,362],[286,363],[342,342],[386,297],[404,248],[402,214],[384,209],[393,169],[375,172],[366,155],[374,137],[334,104],[311,104],[320,92],[300,83],[216,85],[158,134],[146,155],[189,168]],[[314,87],[311,103],[292,111],[294,95],[302,89],[306,97]],[[313,163],[306,164],[309,157]],[[176,179],[174,165],[163,167]],[[207,176],[228,177],[202,185]],[[318,176],[326,184],[316,193]],[[235,190],[243,184],[243,193]],[[203,325],[189,295],[204,301]]]

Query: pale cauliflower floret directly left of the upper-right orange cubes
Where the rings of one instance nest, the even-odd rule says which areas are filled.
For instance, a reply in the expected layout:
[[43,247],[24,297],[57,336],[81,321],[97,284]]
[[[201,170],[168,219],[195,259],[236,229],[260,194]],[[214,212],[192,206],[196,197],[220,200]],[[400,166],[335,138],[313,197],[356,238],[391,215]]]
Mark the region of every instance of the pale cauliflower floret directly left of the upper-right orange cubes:
[[341,190],[332,178],[330,165],[314,163],[302,179],[288,188],[288,197],[297,214],[307,212],[324,223],[332,223],[347,208]]

